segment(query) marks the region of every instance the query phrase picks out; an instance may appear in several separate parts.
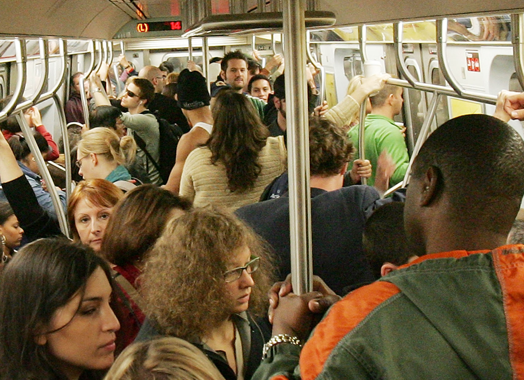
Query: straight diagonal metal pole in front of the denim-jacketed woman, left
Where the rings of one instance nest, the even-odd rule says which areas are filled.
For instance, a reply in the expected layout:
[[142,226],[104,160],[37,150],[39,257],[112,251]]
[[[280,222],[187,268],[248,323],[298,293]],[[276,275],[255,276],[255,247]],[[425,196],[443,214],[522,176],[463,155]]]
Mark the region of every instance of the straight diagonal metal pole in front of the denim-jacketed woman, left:
[[43,180],[46,181],[47,191],[51,196],[54,210],[57,213],[60,229],[65,236],[69,236],[69,228],[67,224],[67,218],[65,217],[65,211],[63,209],[62,203],[60,202],[57,188],[54,187],[53,178],[51,178],[46,162],[43,160],[42,153],[38,149],[35,136],[32,134],[31,128],[29,127],[29,124],[27,123],[27,120],[24,117],[24,113],[22,111],[18,111],[16,113],[16,119],[20,125],[20,129],[24,133],[24,137],[27,141],[27,144],[29,145],[29,149],[31,150],[33,157],[35,157],[36,164],[40,170],[40,175],[42,176]]

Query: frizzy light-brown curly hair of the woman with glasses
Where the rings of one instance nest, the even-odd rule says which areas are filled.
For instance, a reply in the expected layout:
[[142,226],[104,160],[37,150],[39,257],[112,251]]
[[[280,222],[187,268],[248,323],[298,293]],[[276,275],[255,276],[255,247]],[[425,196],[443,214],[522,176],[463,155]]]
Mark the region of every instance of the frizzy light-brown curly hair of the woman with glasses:
[[146,314],[161,332],[199,341],[231,315],[233,304],[223,273],[235,253],[247,246],[260,257],[252,273],[249,312],[267,310],[267,291],[274,276],[268,245],[230,213],[205,207],[171,219],[151,250],[141,292]]

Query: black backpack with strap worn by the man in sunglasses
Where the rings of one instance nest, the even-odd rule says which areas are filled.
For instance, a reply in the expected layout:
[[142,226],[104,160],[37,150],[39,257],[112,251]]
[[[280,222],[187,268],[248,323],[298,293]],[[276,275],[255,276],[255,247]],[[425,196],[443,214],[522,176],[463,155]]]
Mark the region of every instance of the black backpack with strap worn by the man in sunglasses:
[[[142,113],[151,113],[145,111]],[[153,160],[153,157],[146,150],[146,142],[142,140],[136,133],[134,134],[136,144],[138,147],[144,151],[147,158],[151,160],[152,164],[156,167],[162,178],[164,184],[167,183],[171,169],[174,166],[174,163],[177,160],[177,146],[180,137],[184,133],[178,124],[170,124],[166,119],[161,119],[155,115],[158,121],[158,129],[160,132],[160,142],[159,142],[159,157],[160,162]]]

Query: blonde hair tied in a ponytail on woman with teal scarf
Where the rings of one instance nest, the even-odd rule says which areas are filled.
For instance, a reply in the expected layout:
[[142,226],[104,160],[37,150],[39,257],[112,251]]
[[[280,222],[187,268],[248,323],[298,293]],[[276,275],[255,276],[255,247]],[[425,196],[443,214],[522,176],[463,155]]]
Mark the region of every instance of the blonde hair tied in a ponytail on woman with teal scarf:
[[128,165],[135,160],[136,142],[131,136],[119,138],[110,128],[94,128],[82,133],[78,151],[82,156],[95,153],[118,165]]

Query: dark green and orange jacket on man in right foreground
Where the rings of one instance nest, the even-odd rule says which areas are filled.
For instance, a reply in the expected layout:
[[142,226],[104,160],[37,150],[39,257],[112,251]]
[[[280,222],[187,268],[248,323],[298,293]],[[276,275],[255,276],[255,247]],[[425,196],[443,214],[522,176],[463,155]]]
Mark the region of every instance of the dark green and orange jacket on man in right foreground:
[[427,255],[353,291],[253,376],[298,378],[524,379],[524,246]]

